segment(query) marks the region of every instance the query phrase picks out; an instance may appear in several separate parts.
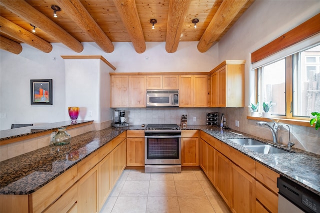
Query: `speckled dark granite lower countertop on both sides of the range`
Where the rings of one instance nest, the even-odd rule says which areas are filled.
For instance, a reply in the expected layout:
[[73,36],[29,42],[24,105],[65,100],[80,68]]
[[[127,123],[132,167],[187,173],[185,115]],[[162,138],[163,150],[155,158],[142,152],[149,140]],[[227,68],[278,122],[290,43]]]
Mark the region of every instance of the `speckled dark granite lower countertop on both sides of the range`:
[[[244,155],[263,164],[280,175],[320,195],[320,156],[292,149],[290,154],[259,154],[231,142],[230,138],[255,138],[231,129],[189,125],[188,130],[206,132]],[[30,194],[71,168],[92,152],[125,130],[144,130],[140,125],[107,128],[72,137],[66,146],[50,145],[0,162],[0,194]]]

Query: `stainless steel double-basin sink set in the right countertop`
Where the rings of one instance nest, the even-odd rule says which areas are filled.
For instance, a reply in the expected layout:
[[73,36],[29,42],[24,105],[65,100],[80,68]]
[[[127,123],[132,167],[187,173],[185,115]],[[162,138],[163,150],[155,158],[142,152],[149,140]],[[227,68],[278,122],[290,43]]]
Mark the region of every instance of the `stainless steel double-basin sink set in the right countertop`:
[[275,153],[292,153],[277,147],[270,146],[268,144],[262,143],[255,139],[250,138],[234,138],[229,139],[230,141],[237,143],[245,148],[252,150],[253,152],[262,154],[275,154]]

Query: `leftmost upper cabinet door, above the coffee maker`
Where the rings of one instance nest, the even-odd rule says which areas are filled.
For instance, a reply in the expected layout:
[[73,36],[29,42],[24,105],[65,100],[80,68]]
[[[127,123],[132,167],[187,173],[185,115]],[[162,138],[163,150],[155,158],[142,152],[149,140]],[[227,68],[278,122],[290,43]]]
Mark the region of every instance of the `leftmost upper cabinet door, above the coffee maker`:
[[129,76],[112,75],[110,85],[110,107],[128,107]]

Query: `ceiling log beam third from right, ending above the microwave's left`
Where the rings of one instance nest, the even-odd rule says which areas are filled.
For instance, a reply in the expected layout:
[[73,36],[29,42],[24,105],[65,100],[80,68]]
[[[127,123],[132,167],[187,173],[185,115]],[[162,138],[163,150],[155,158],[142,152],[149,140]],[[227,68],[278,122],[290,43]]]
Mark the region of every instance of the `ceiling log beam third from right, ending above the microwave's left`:
[[113,0],[137,53],[145,51],[144,35],[134,0]]

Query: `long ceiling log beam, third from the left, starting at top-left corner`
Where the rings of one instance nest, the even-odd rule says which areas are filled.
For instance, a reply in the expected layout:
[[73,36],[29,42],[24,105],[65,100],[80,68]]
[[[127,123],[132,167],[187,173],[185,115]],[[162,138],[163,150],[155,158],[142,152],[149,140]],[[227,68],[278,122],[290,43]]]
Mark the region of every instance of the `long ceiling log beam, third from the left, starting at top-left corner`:
[[24,0],[1,0],[0,4],[45,33],[54,36],[73,51],[81,52],[83,50],[83,46],[78,40]]

